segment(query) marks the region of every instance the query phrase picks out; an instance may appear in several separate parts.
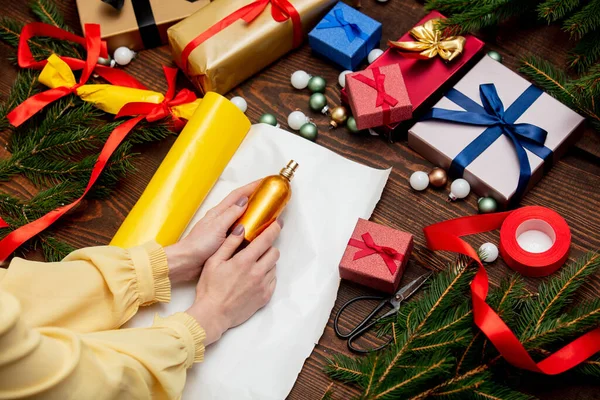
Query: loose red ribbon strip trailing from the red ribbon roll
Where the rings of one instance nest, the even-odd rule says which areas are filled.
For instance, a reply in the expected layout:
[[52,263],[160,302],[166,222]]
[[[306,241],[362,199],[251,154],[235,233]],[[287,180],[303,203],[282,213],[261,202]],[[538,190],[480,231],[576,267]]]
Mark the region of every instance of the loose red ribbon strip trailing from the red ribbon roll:
[[431,250],[446,250],[471,257],[479,269],[471,283],[475,325],[496,346],[502,357],[512,365],[546,375],[565,372],[600,351],[600,328],[575,339],[560,350],[536,363],[523,344],[486,303],[489,289],[487,272],[477,252],[461,236],[488,232],[500,228],[511,212],[457,218],[423,229]]

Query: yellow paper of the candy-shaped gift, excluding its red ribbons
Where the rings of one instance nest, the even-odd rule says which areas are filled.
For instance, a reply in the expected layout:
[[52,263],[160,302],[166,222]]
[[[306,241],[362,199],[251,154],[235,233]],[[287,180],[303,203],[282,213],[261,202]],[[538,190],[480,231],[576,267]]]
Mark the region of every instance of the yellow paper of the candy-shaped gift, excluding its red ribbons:
[[[77,83],[71,68],[55,54],[48,57],[48,63],[42,69],[39,81],[52,89],[60,86],[72,87]],[[81,100],[92,103],[102,111],[115,115],[127,103],[159,104],[165,99],[165,96],[161,93],[152,90],[108,84],[82,85],[77,88],[76,92]],[[189,120],[201,101],[201,99],[197,99],[192,103],[172,107],[171,110],[174,116]]]

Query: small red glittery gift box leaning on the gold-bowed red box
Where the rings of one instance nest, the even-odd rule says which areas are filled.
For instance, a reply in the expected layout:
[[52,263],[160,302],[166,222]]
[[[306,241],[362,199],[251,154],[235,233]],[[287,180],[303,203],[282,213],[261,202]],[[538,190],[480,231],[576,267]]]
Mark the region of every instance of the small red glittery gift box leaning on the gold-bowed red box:
[[358,129],[397,123],[412,116],[398,64],[348,74],[346,88]]

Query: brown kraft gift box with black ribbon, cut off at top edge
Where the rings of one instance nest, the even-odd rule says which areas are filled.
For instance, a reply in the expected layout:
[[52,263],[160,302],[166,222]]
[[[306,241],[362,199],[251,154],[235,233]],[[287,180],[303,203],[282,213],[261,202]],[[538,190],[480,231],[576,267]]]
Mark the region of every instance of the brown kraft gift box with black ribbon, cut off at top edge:
[[167,43],[167,29],[212,0],[125,0],[123,8],[100,0],[77,0],[81,27],[99,24],[109,50],[148,49]]

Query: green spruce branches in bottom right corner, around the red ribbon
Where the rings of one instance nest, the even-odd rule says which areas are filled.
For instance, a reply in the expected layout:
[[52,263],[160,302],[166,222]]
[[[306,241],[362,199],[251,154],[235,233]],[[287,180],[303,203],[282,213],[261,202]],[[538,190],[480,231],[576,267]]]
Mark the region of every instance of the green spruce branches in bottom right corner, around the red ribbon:
[[[359,398],[364,400],[530,399],[508,384],[514,379],[503,378],[507,371],[517,377],[527,373],[505,363],[472,324],[470,301],[465,300],[473,276],[468,264],[459,258],[431,278],[421,298],[401,307],[386,331],[394,335],[388,349],[367,357],[336,355],[325,367],[326,373],[358,387]],[[563,267],[536,294],[525,289],[520,276],[513,275],[490,292],[488,302],[531,354],[547,356],[600,324],[599,299],[573,305],[577,290],[599,269],[600,255],[588,254]],[[422,348],[424,339],[427,349]],[[600,377],[600,356],[570,374]]]

